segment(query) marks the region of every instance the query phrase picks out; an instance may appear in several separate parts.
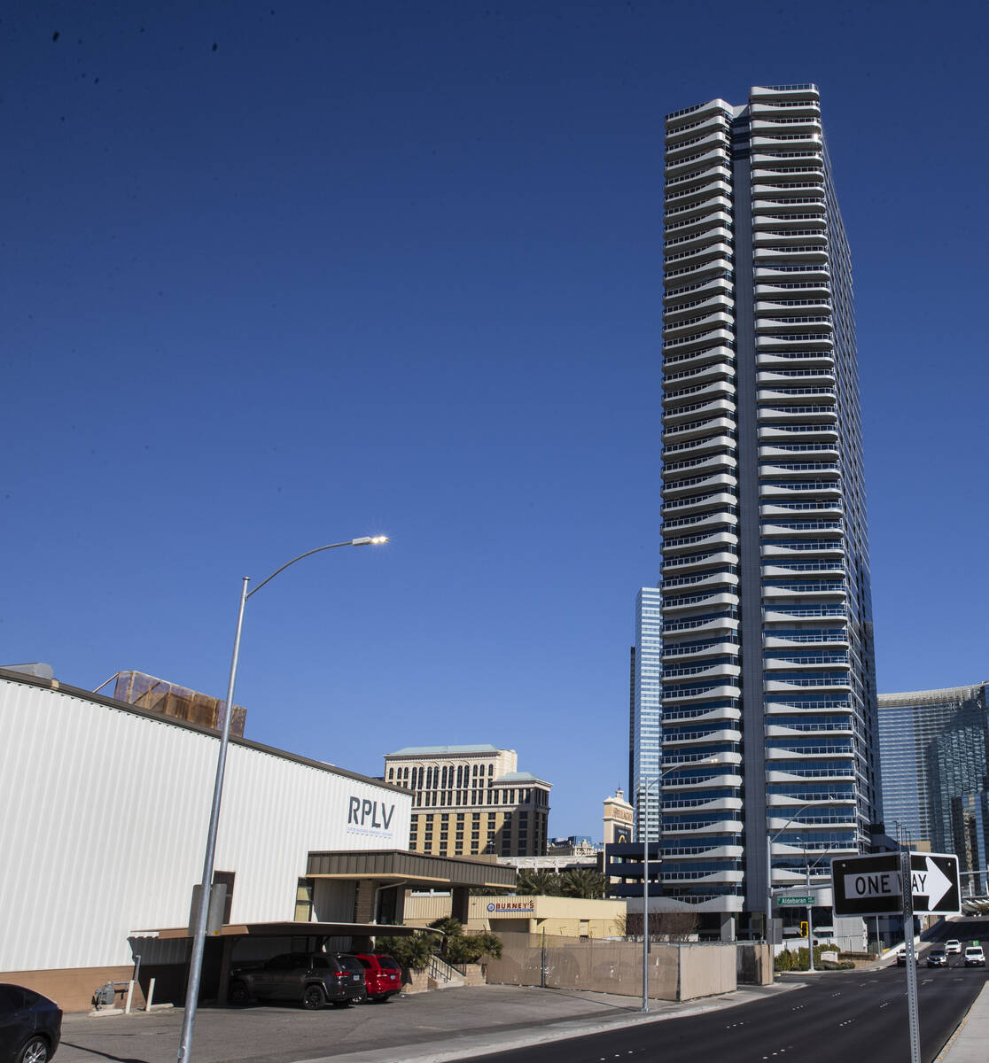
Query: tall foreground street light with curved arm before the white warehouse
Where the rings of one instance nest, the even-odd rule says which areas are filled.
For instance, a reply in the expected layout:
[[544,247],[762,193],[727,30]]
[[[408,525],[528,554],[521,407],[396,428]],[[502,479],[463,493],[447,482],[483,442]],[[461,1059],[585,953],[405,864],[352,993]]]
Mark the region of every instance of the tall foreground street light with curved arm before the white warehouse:
[[192,1051],[192,1030],[196,1025],[196,1012],[199,1007],[199,985],[202,979],[203,951],[206,946],[206,919],[209,914],[209,895],[213,884],[213,862],[216,856],[216,831],[220,820],[220,803],[223,797],[223,774],[227,767],[227,747],[230,742],[230,719],[233,715],[234,686],[237,681],[237,662],[240,658],[240,632],[244,628],[244,607],[247,600],[284,572],[289,564],[301,561],[304,557],[319,554],[324,550],[335,550],[337,546],[369,546],[387,542],[387,536],[363,536],[359,539],[348,539],[347,542],[332,542],[326,546],[317,546],[306,551],[281,569],[275,569],[270,576],[263,579],[252,591],[248,584],[250,576],[244,576],[240,585],[240,602],[237,606],[237,627],[234,632],[234,652],[230,661],[230,678],[227,684],[227,704],[223,707],[223,722],[220,728],[220,747],[216,758],[216,777],[213,782],[213,804],[209,808],[209,829],[206,832],[206,854],[203,858],[203,877],[199,888],[199,905],[196,911],[196,930],[192,937],[192,955],[189,958],[189,980],[185,994],[185,1010],[182,1015],[182,1036],[179,1042],[179,1063],[189,1063]]

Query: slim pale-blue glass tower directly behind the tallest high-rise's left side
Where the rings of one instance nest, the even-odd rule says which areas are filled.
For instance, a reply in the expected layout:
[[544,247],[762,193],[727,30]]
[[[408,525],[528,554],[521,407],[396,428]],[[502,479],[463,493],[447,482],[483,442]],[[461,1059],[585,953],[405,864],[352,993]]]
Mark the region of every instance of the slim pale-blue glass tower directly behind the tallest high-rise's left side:
[[[636,839],[659,838],[660,677],[663,674],[663,601],[658,587],[643,587],[635,600],[635,654],[632,692],[632,778]],[[648,787],[648,789],[647,789]]]

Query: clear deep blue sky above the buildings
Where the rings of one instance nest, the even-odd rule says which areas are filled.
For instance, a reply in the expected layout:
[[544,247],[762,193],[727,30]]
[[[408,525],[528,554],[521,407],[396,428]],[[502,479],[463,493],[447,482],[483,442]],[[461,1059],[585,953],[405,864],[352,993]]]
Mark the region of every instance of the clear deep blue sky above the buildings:
[[816,81],[879,689],[986,678],[986,19],[7,4],[0,660],[222,696],[241,575],[387,534],[251,600],[248,736],[512,746],[600,837],[658,577],[663,116]]

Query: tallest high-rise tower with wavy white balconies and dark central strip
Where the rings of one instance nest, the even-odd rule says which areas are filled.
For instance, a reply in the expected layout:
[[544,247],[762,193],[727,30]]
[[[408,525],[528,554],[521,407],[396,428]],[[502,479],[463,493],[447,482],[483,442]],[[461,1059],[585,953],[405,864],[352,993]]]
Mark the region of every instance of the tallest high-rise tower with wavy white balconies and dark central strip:
[[770,839],[823,887],[882,819],[852,271],[815,85],[669,115],[665,173],[656,907],[747,934]]

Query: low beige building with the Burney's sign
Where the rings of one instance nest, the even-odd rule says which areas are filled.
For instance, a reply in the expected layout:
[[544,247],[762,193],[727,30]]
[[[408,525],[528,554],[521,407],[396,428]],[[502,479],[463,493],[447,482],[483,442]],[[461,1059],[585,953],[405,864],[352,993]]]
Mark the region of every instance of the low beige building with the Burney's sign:
[[[407,926],[429,926],[452,910],[450,896],[405,898]],[[624,900],[585,900],[508,894],[471,897],[468,930],[492,933],[548,933],[563,938],[620,938],[625,932]]]

